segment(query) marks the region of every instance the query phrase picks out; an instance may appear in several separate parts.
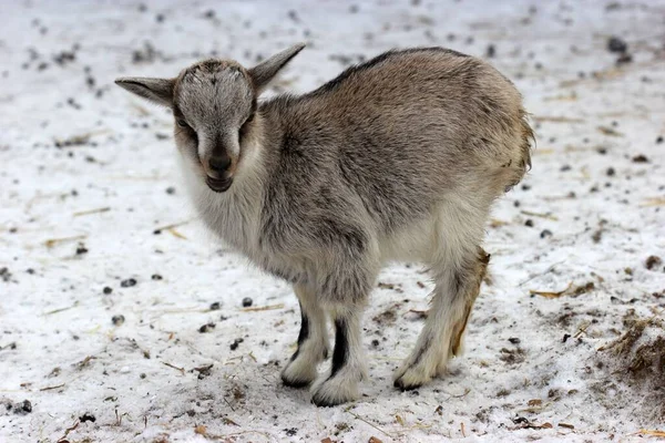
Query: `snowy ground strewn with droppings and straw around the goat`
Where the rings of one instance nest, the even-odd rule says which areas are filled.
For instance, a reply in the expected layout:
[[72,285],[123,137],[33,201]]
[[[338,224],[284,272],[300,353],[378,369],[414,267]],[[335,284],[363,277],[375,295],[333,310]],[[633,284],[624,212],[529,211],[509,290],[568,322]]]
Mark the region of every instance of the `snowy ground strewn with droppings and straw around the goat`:
[[[665,308],[664,265],[646,268],[665,259],[664,17],[655,0],[2,2],[0,442],[649,439],[665,381],[598,349]],[[617,66],[611,35],[632,61]],[[492,45],[534,114],[533,171],[488,226],[467,353],[418,391],[391,387],[430,290],[405,265],[372,293],[360,401],[317,409],[280,385],[290,288],[203,233],[168,114],[112,84],[299,41],[282,90],[392,47]]]

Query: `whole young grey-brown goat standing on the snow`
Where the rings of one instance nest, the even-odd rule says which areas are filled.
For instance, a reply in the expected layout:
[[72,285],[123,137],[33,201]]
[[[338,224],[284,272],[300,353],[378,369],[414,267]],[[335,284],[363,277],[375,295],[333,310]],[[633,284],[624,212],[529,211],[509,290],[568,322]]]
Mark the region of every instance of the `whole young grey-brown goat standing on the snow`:
[[[173,110],[206,226],[294,285],[303,321],[282,380],[314,382],[314,403],[334,405],[358,396],[362,311],[387,261],[422,262],[436,282],[395,385],[418,388],[459,353],[489,262],[490,206],[530,167],[533,133],[508,79],[442,48],[389,51],[313,92],[257,104],[303,48],[252,69],[213,59],[174,79],[116,83]],[[328,316],[332,362],[317,379]]]

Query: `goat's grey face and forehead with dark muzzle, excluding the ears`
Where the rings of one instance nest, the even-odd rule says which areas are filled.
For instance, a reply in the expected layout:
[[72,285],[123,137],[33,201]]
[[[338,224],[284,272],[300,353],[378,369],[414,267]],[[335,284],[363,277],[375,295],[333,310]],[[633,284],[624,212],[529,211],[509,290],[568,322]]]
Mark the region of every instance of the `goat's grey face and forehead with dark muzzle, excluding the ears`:
[[249,73],[229,61],[206,60],[177,76],[173,90],[175,143],[214,192],[225,192],[256,112]]

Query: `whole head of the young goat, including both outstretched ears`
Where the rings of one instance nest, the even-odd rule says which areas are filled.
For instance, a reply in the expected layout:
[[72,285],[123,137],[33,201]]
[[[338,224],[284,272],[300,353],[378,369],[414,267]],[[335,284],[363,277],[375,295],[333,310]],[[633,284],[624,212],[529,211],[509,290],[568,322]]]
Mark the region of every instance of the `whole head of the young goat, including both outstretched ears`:
[[304,45],[295,45],[246,70],[232,60],[205,60],[175,79],[117,79],[116,84],[171,107],[175,143],[214,192],[233,184],[243,145],[255,125],[256,100]]

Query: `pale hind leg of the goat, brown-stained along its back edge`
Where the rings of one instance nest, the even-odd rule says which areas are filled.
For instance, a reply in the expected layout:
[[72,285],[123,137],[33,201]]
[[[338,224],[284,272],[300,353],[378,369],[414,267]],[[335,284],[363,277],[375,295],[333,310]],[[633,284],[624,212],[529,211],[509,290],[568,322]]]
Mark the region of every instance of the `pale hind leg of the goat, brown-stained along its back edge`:
[[416,348],[395,374],[395,387],[419,388],[442,373],[448,359],[461,352],[462,336],[473,302],[480,292],[490,256],[478,247],[461,260],[440,264],[427,322]]

